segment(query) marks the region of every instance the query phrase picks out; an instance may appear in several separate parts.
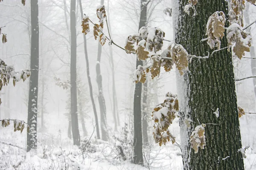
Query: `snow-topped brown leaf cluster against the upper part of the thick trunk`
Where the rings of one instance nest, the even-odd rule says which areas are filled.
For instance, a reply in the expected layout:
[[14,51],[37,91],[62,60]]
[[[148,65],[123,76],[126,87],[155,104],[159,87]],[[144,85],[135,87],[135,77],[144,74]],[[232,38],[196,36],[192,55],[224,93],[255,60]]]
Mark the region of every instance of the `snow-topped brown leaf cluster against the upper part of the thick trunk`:
[[221,39],[224,37],[225,31],[225,14],[222,11],[216,11],[213,13],[207,22],[207,43],[210,48],[221,48]]

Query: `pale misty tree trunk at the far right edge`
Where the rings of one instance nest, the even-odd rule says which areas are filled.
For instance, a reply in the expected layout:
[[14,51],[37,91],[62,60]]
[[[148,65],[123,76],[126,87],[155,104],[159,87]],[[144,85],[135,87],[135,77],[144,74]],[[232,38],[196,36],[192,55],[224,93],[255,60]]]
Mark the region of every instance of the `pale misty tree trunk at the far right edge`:
[[[250,24],[250,18],[249,18],[249,14],[248,14],[248,10],[249,10],[249,6],[250,4],[247,3],[246,5],[246,11],[244,11],[244,20],[245,20],[245,24],[248,25]],[[250,27],[248,28],[248,31],[250,32]],[[253,37],[253,35],[251,34],[251,36]],[[253,39],[251,40],[251,47],[250,47],[250,57],[255,58],[255,48],[253,46]],[[255,59],[251,59],[251,70],[252,70],[252,74],[253,76],[256,75],[256,60]],[[254,95],[256,97],[256,79],[253,79],[253,90],[254,90]]]

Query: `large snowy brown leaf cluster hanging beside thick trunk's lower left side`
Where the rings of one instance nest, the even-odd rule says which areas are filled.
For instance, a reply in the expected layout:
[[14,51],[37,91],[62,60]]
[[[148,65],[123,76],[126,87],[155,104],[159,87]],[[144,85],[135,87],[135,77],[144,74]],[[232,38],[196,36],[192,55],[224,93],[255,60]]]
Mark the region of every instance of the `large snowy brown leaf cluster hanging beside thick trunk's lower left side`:
[[[165,145],[166,142],[172,141],[175,143],[175,137],[169,132],[168,128],[175,119],[175,111],[178,111],[178,99],[177,95],[174,98],[174,95],[170,93],[166,97],[164,102],[154,108],[152,112],[152,119],[154,120],[154,140],[160,146]],[[160,110],[168,109],[167,116],[163,114]],[[161,114],[160,119],[157,115]]]

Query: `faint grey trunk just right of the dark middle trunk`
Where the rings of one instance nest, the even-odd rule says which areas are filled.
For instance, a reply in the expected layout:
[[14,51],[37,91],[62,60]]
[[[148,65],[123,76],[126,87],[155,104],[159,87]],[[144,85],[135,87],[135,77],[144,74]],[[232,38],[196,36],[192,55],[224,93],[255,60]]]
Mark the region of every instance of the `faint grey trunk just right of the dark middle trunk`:
[[143,84],[143,117],[142,117],[143,144],[145,146],[148,145],[147,96],[148,96],[148,82],[145,82]]

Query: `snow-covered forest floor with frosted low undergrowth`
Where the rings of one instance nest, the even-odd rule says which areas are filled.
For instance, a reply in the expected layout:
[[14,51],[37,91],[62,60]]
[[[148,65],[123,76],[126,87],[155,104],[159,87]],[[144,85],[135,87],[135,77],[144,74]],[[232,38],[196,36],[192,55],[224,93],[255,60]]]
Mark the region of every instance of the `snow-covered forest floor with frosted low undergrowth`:
[[[150,144],[144,149],[145,166],[131,164],[132,135],[128,134],[123,149],[128,159],[119,155],[118,140],[124,140],[124,133],[112,133],[109,142],[95,139],[92,123],[87,122],[88,136],[81,137],[82,147],[73,146],[73,141],[67,137],[67,119],[47,115],[47,130],[40,132],[38,128],[38,149],[26,153],[26,133],[13,132],[13,126],[0,127],[0,170],[181,170],[182,158],[177,144],[168,143],[159,147],[150,138]],[[243,147],[250,145],[244,159],[246,170],[256,169],[256,115],[245,115],[240,118]],[[111,120],[108,121],[109,125]],[[81,127],[81,126],[80,126]],[[178,120],[175,119],[171,133],[179,139]],[[92,137],[90,138],[90,136]],[[151,133],[150,133],[151,134]],[[82,132],[81,132],[82,136]],[[89,140],[90,139],[90,140]],[[88,142],[89,141],[89,142]],[[149,166],[149,168],[148,168]]]

